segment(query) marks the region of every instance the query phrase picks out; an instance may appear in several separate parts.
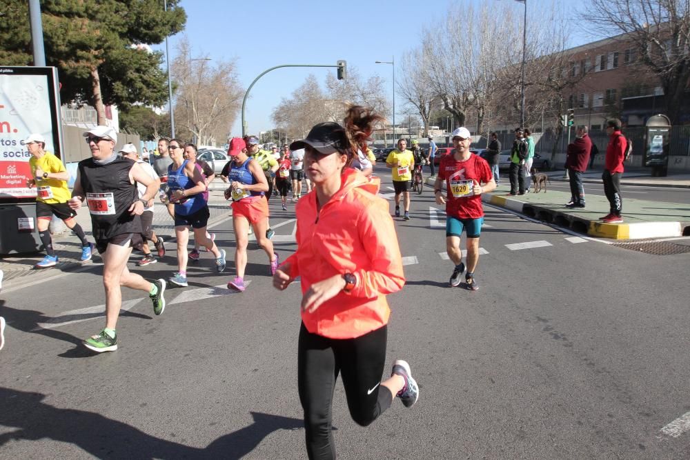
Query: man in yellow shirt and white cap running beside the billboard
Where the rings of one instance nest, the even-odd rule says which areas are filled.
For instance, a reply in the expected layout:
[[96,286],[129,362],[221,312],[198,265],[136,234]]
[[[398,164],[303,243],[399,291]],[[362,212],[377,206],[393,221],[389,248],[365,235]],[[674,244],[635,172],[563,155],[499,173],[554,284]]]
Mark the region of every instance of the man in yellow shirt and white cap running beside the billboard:
[[48,231],[50,219],[54,215],[61,219],[81,240],[81,261],[88,261],[91,259],[93,245],[88,242],[83,229],[74,219],[77,216],[77,211],[72,210],[67,204],[70,199],[70,189],[67,186],[70,173],[67,172],[65,165],[58,157],[43,150],[46,148],[46,139],[41,134],[31,134],[24,140],[24,145],[31,154],[29,165],[32,179],[26,181],[26,185],[29,188],[37,188],[37,227],[41,243],[46,248],[46,257],[43,257],[43,260],[37,263],[35,268],[48,268],[57,263],[57,254],[52,248],[52,238]]

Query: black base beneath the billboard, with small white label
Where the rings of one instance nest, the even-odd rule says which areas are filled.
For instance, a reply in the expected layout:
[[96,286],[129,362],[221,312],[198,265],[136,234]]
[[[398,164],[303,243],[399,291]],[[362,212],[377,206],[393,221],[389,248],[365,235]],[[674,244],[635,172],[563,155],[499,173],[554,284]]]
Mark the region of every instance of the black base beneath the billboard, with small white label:
[[34,203],[0,205],[0,222],[0,255],[32,254],[42,249]]

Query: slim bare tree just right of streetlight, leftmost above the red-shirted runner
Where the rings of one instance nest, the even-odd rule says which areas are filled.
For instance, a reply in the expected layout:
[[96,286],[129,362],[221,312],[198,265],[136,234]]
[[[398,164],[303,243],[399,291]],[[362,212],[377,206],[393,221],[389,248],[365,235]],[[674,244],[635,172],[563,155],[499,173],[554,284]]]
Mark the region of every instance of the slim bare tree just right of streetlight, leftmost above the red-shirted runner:
[[421,48],[407,52],[402,58],[402,77],[397,81],[397,94],[422,117],[424,137],[428,136],[429,118],[435,95],[426,65],[424,51]]

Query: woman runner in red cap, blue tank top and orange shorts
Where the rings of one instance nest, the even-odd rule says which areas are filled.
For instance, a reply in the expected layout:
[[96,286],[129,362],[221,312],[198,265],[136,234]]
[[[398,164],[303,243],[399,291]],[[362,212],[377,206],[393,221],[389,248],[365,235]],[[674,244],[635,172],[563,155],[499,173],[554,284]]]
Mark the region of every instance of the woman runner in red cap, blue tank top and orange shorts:
[[251,225],[259,246],[266,251],[270,262],[270,274],[278,268],[278,254],[273,252],[273,243],[266,237],[268,227],[268,201],[264,192],[268,192],[268,182],[264,170],[255,159],[247,156],[244,139],[230,139],[230,171],[228,181],[230,188],[225,191],[225,198],[232,199],[233,229],[235,230],[235,268],[237,277],[228,283],[228,289],[244,291],[244,269],[247,266],[248,231]]

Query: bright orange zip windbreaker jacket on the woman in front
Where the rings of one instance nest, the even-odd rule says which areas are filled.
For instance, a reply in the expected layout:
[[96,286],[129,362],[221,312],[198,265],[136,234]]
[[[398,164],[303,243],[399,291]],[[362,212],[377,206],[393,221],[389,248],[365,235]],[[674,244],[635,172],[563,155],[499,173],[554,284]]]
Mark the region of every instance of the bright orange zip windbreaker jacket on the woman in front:
[[315,192],[297,203],[297,251],[283,265],[290,277],[301,277],[302,294],[335,274],[357,277],[352,292],[302,312],[313,334],[353,339],[388,323],[386,294],[401,290],[405,276],[388,202],[376,196],[379,186],[379,179],[368,181],[348,168],[342,187],[320,212]]

